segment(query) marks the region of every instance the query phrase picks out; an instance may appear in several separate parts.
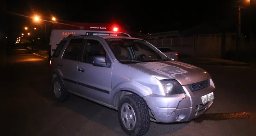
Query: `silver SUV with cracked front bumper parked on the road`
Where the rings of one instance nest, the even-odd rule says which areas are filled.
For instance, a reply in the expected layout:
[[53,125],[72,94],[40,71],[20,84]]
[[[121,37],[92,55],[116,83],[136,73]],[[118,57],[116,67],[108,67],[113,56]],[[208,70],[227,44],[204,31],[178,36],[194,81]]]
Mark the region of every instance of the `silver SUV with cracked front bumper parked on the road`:
[[150,121],[190,121],[213,104],[209,73],[138,38],[69,35],[50,65],[59,102],[74,94],[116,109],[128,135],[144,135]]

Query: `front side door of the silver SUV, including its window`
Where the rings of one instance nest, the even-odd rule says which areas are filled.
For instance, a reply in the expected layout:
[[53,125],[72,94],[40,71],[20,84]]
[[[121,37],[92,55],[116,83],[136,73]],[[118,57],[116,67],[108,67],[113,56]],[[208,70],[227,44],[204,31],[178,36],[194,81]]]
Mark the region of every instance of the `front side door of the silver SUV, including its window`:
[[111,91],[111,73],[113,65],[110,67],[93,66],[93,57],[102,55],[106,57],[106,62],[111,64],[110,55],[106,53],[100,40],[87,39],[82,62],[78,64],[78,90],[79,94],[101,103],[109,103]]

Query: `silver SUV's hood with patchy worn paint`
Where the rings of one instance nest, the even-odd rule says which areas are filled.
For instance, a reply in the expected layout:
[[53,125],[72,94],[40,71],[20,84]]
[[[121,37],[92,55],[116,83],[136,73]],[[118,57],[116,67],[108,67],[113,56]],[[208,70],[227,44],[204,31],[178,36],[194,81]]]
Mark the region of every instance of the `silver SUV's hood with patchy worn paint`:
[[192,84],[211,78],[210,74],[205,70],[178,61],[144,62],[125,65],[154,75],[158,80],[175,79],[181,85]]

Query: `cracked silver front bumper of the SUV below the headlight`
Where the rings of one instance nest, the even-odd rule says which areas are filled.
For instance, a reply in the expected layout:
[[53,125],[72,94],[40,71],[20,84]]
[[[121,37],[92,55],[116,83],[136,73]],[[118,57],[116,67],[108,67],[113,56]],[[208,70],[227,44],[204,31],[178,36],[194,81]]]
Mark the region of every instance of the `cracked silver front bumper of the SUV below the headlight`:
[[160,96],[151,94],[144,97],[151,110],[151,119],[156,122],[186,122],[199,117],[213,104],[213,100],[202,104],[201,97],[213,92],[214,85],[191,92],[183,86],[186,94]]

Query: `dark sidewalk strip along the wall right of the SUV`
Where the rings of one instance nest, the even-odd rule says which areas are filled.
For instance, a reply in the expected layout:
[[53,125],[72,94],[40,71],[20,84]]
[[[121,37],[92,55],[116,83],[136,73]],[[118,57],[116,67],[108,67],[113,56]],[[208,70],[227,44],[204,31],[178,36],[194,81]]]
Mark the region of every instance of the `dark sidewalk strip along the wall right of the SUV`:
[[179,57],[178,61],[188,64],[221,65],[221,66],[250,66],[249,63],[223,60],[220,58]]

